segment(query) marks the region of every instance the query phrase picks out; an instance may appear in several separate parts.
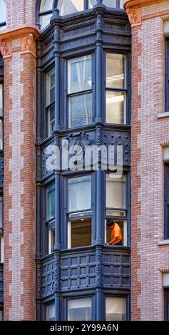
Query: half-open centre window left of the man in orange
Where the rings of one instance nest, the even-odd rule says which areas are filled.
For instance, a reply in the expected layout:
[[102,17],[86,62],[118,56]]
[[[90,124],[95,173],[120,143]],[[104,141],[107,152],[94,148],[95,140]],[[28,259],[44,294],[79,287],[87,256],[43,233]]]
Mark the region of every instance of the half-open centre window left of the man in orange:
[[91,245],[91,176],[68,180],[68,248]]

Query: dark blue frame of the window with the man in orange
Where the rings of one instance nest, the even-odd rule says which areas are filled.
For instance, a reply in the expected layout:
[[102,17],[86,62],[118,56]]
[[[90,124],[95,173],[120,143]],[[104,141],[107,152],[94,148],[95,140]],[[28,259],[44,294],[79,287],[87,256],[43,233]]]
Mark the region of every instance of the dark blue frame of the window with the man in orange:
[[126,222],[125,227],[123,227],[124,231],[126,232],[126,236],[124,236],[123,233],[123,241],[126,241],[126,244],[122,244],[121,246],[114,245],[108,245],[106,247],[130,247],[130,171],[124,170],[123,175],[126,176],[126,215],[124,216],[117,216],[117,215],[108,215],[106,214],[106,210],[112,210],[114,212],[117,211],[124,211],[124,209],[118,209],[118,208],[109,208],[106,207],[106,175],[109,173],[113,173],[112,171],[105,171],[105,177],[104,177],[104,232],[103,232],[103,241],[104,244],[106,244],[107,234],[106,234],[106,223],[108,219],[113,219],[117,221],[124,221]]

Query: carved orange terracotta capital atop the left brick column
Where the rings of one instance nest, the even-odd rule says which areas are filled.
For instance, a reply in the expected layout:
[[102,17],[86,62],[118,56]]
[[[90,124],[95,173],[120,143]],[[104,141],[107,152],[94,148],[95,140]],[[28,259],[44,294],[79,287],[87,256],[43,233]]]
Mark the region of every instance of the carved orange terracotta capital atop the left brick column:
[[[16,29],[5,29],[0,33],[0,51],[4,58],[10,58],[13,52],[31,53],[36,58],[36,39],[40,31],[34,25],[24,25]],[[13,41],[18,43],[13,43]]]

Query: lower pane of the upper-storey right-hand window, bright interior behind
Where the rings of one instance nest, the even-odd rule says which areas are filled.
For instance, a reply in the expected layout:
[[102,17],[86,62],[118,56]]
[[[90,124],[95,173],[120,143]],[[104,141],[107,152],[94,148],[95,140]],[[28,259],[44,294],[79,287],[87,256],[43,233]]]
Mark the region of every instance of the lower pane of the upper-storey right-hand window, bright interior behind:
[[126,124],[126,94],[106,92],[106,123]]

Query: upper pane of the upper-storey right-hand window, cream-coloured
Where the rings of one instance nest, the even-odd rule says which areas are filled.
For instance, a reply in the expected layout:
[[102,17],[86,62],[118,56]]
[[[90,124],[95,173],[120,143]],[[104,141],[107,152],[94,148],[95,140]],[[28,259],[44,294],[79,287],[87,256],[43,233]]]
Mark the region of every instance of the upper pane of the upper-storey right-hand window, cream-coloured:
[[126,88],[126,56],[116,53],[106,55],[106,86]]

